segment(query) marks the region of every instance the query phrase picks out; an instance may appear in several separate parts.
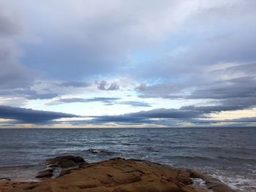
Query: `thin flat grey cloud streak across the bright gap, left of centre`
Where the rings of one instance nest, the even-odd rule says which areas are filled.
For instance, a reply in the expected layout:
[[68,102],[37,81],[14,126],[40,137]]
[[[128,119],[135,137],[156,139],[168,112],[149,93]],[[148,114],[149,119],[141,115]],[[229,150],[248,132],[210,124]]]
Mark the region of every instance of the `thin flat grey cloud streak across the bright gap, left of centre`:
[[89,103],[89,102],[102,102],[105,104],[112,104],[114,101],[120,98],[114,97],[94,97],[91,99],[83,99],[83,98],[64,98],[64,99],[56,99],[54,101],[50,101],[48,105],[56,105],[56,104],[64,104],[64,103]]

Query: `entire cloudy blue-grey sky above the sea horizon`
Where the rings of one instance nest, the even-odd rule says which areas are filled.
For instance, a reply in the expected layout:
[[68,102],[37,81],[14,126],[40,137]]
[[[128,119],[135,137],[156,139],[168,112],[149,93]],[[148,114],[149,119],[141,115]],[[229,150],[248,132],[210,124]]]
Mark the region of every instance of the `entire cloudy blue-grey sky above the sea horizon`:
[[255,0],[0,0],[0,128],[256,126]]

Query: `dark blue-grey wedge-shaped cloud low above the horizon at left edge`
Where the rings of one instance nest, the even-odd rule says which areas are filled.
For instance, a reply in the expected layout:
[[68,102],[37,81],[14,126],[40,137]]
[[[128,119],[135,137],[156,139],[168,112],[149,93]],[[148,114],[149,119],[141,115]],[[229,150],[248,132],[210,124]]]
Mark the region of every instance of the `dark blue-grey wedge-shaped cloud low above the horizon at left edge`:
[[20,107],[0,106],[0,118],[17,120],[18,123],[40,124],[59,118],[75,117],[78,117],[78,115],[71,115],[62,112],[30,110]]

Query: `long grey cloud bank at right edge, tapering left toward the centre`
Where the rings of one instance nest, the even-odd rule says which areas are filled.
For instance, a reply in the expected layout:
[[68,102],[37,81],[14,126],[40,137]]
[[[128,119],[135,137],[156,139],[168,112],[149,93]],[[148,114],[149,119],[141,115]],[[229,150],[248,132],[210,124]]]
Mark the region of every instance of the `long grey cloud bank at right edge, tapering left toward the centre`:
[[[255,66],[255,63],[235,63],[231,66],[218,64],[209,67],[204,74],[193,80],[161,82],[154,85],[144,83],[136,87],[135,91],[142,98],[211,99],[217,103],[236,99],[239,102],[249,102],[256,97]],[[253,104],[255,103],[252,102],[251,105]]]

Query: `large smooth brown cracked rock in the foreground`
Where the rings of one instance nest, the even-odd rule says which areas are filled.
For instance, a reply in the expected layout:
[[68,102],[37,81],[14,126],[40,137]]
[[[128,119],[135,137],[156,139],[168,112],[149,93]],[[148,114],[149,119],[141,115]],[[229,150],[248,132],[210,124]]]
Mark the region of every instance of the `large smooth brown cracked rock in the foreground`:
[[184,170],[149,161],[114,158],[71,170],[55,179],[43,180],[33,188],[16,188],[12,192],[195,192],[188,183],[192,181]]

